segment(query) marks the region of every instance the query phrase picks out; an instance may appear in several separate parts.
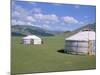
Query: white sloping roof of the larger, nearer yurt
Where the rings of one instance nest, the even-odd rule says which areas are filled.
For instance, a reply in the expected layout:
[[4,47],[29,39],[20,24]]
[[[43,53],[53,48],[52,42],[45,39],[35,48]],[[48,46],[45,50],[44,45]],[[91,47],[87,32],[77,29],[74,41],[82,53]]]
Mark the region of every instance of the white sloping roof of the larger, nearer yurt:
[[71,37],[66,38],[65,40],[79,40],[79,41],[95,40],[95,32],[81,31]]

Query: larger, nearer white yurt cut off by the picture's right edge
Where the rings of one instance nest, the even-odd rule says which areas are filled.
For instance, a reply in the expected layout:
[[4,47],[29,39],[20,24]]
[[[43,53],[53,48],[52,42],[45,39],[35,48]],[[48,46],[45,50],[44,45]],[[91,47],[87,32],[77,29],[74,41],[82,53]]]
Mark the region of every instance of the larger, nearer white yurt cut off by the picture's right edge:
[[65,38],[64,52],[95,55],[95,32],[91,30],[82,30],[68,38]]

